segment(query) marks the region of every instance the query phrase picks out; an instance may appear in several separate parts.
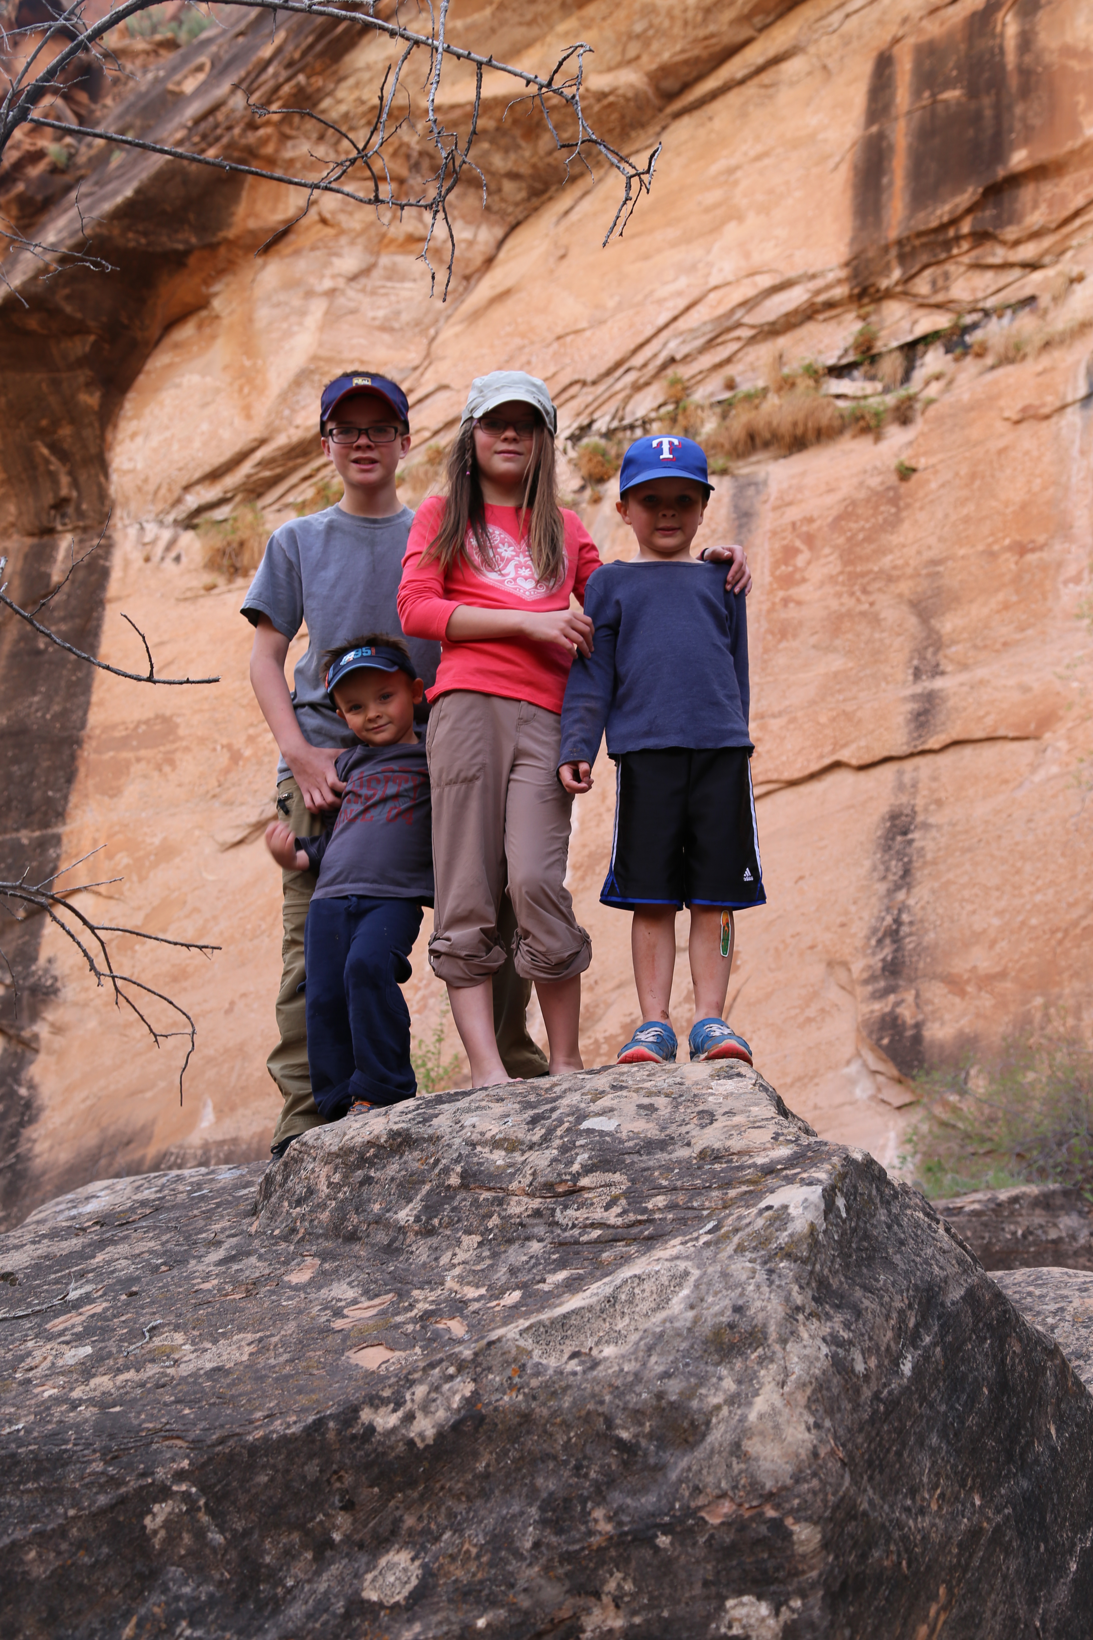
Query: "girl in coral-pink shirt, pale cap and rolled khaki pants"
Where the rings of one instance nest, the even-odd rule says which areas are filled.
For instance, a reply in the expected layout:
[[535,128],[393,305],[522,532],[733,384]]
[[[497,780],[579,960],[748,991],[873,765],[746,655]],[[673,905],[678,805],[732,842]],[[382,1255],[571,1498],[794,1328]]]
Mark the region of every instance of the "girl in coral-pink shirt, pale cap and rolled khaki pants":
[[493,1036],[492,979],[505,961],[508,881],[516,971],[534,981],[551,1073],[578,1071],[588,935],[565,887],[572,797],[557,779],[574,648],[590,653],[583,600],[600,554],[557,505],[557,415],[546,384],[493,371],[470,389],[447,495],[410,530],[398,617],[442,645],[426,748],[436,915],[429,963],[447,982],[475,1087],[508,1076]]

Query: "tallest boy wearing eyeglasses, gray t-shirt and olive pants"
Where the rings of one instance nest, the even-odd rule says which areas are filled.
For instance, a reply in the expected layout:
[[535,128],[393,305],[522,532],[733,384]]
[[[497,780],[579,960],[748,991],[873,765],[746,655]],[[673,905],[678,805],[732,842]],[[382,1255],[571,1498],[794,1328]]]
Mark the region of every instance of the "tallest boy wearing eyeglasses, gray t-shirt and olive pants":
[[[347,631],[401,635],[397,594],[413,513],[398,500],[395,474],[410,453],[410,407],[397,382],[372,371],[347,371],[323,389],[323,454],[342,482],[334,507],[293,518],[274,530],[243,604],[254,626],[251,687],[280,751],[279,817],[297,836],[318,836],[344,782],[336,761],[356,745],[324,689],[323,656]],[[306,626],[308,648],[285,682],[288,645]],[[439,643],[410,638],[418,677],[431,686]],[[280,1040],[267,1063],[283,1105],[270,1153],[316,1127],[320,1117],[308,1074],[303,999],[303,928],[315,879],[283,872],[282,981],[277,995]],[[495,986],[498,1050],[513,1076],[546,1074],[546,1058],[528,1036],[529,986],[511,961]]]

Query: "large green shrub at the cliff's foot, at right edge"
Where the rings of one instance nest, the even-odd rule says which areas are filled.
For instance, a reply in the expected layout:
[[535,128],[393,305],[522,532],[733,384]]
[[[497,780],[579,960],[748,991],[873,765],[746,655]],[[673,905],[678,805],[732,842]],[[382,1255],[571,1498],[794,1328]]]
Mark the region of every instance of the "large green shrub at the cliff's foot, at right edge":
[[965,1059],[916,1077],[923,1115],[908,1155],[926,1196],[1067,1184],[1093,1200],[1093,1055],[1055,1033],[1009,1041],[998,1064]]

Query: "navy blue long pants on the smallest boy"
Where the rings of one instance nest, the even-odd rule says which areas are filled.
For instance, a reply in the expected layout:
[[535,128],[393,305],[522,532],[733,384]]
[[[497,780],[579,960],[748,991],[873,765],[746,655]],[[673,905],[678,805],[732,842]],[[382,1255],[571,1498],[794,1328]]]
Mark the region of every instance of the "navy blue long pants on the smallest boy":
[[421,927],[416,900],[313,899],[303,930],[308,1068],[320,1115],[354,1099],[413,1099],[410,1009],[398,989]]

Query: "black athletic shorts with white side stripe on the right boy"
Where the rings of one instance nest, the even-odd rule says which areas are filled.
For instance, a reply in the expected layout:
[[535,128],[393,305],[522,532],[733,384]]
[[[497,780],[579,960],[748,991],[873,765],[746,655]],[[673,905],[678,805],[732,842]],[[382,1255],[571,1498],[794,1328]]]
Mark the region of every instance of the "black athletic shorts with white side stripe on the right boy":
[[747,746],[628,751],[615,759],[605,905],[764,905]]

